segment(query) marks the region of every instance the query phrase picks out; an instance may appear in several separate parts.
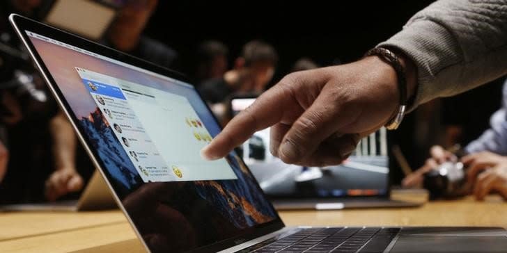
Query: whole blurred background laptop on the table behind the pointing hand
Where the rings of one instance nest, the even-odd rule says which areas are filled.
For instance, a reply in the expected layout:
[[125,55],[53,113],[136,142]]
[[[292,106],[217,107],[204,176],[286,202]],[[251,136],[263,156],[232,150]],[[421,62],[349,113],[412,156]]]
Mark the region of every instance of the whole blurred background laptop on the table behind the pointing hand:
[[[228,118],[250,106],[255,94],[233,95]],[[263,129],[238,148],[267,197],[278,210],[415,207],[428,199],[426,190],[411,199],[391,199],[389,157],[385,128],[364,138],[341,165],[306,168],[272,156],[270,129]],[[403,190],[397,190],[403,195]]]

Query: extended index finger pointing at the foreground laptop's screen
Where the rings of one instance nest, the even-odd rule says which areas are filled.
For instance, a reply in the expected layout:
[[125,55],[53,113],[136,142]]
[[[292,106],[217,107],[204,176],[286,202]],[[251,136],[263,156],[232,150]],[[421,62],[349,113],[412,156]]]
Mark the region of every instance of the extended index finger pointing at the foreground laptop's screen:
[[258,97],[251,106],[235,116],[210,144],[203,148],[201,156],[215,160],[226,156],[231,150],[260,129],[281,121],[287,105],[294,99],[284,85],[275,85]]

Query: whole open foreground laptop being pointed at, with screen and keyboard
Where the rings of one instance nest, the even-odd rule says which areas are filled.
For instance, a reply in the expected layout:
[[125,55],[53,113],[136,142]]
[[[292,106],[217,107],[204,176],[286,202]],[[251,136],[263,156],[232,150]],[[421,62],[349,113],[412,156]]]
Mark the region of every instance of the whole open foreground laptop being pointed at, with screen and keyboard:
[[19,15],[10,22],[148,252],[507,249],[494,227],[286,227],[240,156],[201,158],[221,129],[184,76]]

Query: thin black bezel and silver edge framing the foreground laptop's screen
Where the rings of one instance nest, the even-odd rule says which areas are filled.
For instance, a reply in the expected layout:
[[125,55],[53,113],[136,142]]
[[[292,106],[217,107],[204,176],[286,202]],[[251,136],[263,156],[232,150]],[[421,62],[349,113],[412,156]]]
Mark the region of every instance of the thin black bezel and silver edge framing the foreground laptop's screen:
[[[145,60],[135,58],[134,56],[124,54],[124,53],[117,51],[115,49],[104,47],[103,45],[93,42],[91,40],[87,40],[85,38],[80,38],[77,35],[73,35],[71,33],[65,32],[65,31],[61,31],[61,30],[54,28],[52,26],[47,26],[45,24],[41,24],[41,23],[36,22],[32,19],[22,17],[20,15],[12,14],[9,17],[9,20],[10,20],[11,24],[13,24],[13,27],[15,28],[17,35],[20,36],[20,39],[24,43],[25,47],[28,49],[31,58],[36,65],[36,68],[38,69],[40,74],[44,77],[47,85],[49,86],[49,90],[52,91],[52,93],[53,93],[54,97],[56,98],[56,101],[58,101],[58,104],[61,107],[62,111],[69,118],[72,126],[74,127],[74,129],[77,133],[79,140],[81,141],[81,145],[83,145],[84,149],[86,149],[86,152],[88,152],[88,155],[90,156],[91,161],[94,163],[95,167],[98,170],[100,170],[100,172],[102,173],[102,176],[105,179],[107,179],[106,180],[107,184],[108,184],[109,188],[111,189],[111,192],[113,193],[114,199],[116,200],[118,206],[120,207],[120,209],[122,209],[127,220],[129,220],[130,225],[132,226],[132,228],[136,232],[138,238],[141,239],[141,242],[143,243],[143,245],[145,245],[145,247],[149,250],[149,248],[146,246],[146,243],[144,242],[143,238],[139,234],[137,227],[134,225],[134,223],[130,219],[130,215],[123,208],[123,205],[120,202],[120,199],[118,198],[118,194],[116,193],[116,190],[111,186],[111,183],[110,183],[112,180],[111,175],[107,172],[107,170],[102,170],[102,168],[105,168],[105,166],[102,163],[102,161],[100,160],[100,158],[98,158],[99,157],[98,153],[96,152],[96,150],[91,148],[91,147],[93,147],[91,145],[91,142],[88,140],[88,138],[86,138],[86,135],[84,134],[83,129],[81,129],[81,126],[79,126],[79,124],[77,124],[78,119],[77,119],[75,113],[72,112],[72,109],[70,108],[68,102],[66,101],[65,97],[63,96],[63,93],[61,92],[61,90],[59,89],[59,86],[54,81],[51,72],[49,72],[49,70],[45,66],[45,63],[42,61],[42,58],[38,54],[38,51],[33,46],[31,40],[29,39],[29,36],[26,34],[26,31],[38,33],[38,34],[43,35],[47,38],[52,38],[54,40],[65,42],[65,43],[70,44],[72,46],[79,47],[81,49],[86,49],[86,50],[91,51],[95,54],[99,54],[101,56],[112,58],[112,59],[118,60],[122,63],[127,63],[129,65],[140,67],[144,70],[148,70],[148,71],[154,72],[156,74],[169,76],[172,79],[177,79],[177,80],[183,81],[185,83],[192,84],[192,82],[189,81],[189,79],[187,79],[183,74],[180,74],[180,73],[175,72],[173,70],[168,70],[164,67],[159,67],[157,65],[154,65],[153,63],[149,63]],[[199,96],[201,97],[200,94],[199,94]],[[202,99],[202,97],[201,97],[201,99]],[[214,115],[210,111],[209,107],[208,107],[208,111],[214,117]],[[214,117],[214,120],[215,120],[215,122],[217,122],[217,124],[219,124],[216,117]],[[249,173],[251,173],[250,170],[249,170]],[[260,189],[258,182],[256,182],[256,186],[260,190],[260,193],[263,195],[263,197],[267,199],[266,195]],[[270,202],[270,207],[272,209],[274,209],[271,202]],[[244,243],[248,240],[253,240],[254,238],[258,238],[260,236],[270,234],[274,231],[282,229],[283,227],[285,227],[285,225],[283,224],[278,213],[276,211],[275,211],[275,213],[276,213],[276,217],[274,218],[274,220],[272,220],[270,222],[266,222],[266,223],[257,225],[256,227],[251,227],[249,229],[244,229],[244,230],[242,230],[242,233],[240,233],[237,236],[234,236],[232,238],[227,238],[225,240],[221,240],[217,243],[212,243],[211,245],[203,245],[201,247],[198,247],[198,248],[192,250],[192,252],[210,252],[210,251],[214,252],[214,251],[219,251],[219,250],[225,250],[228,247],[232,247],[234,245],[239,245],[239,244]]]

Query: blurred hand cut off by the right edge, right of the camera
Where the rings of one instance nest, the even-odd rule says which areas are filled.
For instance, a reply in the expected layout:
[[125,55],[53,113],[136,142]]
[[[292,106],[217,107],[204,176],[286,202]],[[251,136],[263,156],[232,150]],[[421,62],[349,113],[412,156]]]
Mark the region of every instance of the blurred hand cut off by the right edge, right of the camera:
[[489,193],[499,193],[507,199],[507,163],[499,163],[479,174],[474,186],[477,200],[483,200]]

